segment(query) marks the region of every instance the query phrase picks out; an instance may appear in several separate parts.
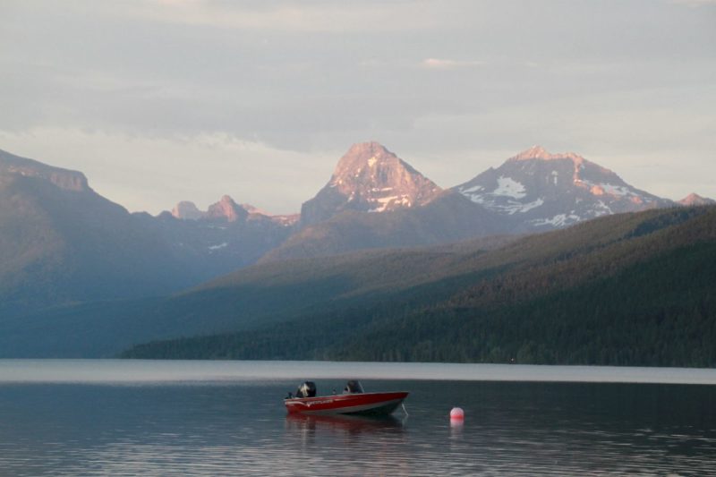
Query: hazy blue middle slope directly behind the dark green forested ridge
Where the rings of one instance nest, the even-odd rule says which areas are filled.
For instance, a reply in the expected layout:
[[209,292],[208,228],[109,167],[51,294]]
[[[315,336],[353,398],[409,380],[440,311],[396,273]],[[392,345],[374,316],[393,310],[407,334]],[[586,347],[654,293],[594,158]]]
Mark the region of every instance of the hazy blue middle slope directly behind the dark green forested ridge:
[[111,357],[151,339],[256,328],[307,310],[327,310],[334,302],[363,306],[430,282],[434,273],[445,273],[455,263],[452,259],[462,256],[457,251],[481,253],[515,239],[269,262],[183,294],[35,311],[0,320],[0,358]]

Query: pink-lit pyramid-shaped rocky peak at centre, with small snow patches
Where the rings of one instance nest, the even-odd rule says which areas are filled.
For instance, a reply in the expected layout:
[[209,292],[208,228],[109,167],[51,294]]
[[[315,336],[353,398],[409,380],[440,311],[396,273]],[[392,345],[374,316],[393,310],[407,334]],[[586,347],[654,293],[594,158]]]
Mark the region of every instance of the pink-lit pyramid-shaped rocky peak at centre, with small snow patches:
[[354,144],[338,161],[328,183],[303,203],[302,226],[346,210],[388,212],[430,203],[441,189],[377,142]]

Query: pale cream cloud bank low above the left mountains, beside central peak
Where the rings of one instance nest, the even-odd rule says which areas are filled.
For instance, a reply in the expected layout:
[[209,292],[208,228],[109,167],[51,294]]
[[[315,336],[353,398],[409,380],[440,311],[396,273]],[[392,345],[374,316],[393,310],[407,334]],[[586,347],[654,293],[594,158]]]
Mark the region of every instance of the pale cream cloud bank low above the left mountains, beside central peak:
[[77,128],[0,130],[0,149],[79,170],[131,211],[157,214],[180,200],[206,209],[223,194],[271,213],[297,212],[328,181],[338,157],[243,141],[225,133],[141,137]]

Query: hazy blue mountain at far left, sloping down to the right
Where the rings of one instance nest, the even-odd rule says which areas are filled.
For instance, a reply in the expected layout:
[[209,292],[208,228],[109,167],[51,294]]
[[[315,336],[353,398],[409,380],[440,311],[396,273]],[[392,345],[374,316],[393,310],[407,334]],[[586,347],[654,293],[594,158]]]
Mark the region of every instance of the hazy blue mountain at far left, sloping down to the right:
[[190,275],[80,172],[0,151],[0,314],[165,294]]

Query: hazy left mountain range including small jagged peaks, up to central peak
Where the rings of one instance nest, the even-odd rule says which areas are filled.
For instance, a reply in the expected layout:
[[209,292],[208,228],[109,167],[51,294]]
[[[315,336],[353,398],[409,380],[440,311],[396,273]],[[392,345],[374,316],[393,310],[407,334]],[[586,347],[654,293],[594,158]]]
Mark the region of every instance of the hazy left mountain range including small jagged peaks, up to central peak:
[[80,172],[0,151],[0,313],[169,294],[259,260],[297,217],[224,196],[130,214]]

